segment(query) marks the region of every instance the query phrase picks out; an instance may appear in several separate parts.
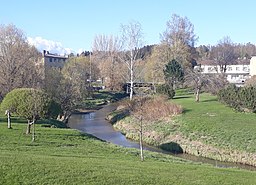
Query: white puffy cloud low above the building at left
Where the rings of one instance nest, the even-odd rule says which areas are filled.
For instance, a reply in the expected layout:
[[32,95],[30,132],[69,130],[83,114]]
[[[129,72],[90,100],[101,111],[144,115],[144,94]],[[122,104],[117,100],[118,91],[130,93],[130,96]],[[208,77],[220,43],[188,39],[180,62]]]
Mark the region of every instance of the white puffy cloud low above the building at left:
[[57,53],[59,55],[74,53],[71,48],[64,48],[60,42],[46,40],[42,37],[28,37],[28,42],[29,44],[34,45],[40,52],[46,50],[50,53]]

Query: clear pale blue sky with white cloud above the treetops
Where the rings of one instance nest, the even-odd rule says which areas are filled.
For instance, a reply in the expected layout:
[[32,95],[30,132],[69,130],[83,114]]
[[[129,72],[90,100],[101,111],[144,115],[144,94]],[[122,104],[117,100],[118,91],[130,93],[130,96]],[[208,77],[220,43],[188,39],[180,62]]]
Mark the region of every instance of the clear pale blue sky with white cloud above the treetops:
[[145,45],[160,43],[172,14],[187,17],[199,37],[196,46],[225,36],[256,44],[255,0],[0,0],[0,24],[13,24],[40,51],[91,51],[96,35],[118,35],[137,21]]

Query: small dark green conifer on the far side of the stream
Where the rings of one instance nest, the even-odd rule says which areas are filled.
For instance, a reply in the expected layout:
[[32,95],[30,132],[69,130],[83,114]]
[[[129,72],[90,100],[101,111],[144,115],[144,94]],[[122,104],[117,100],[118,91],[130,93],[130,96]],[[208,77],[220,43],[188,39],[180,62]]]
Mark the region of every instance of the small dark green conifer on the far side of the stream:
[[183,81],[184,72],[182,66],[176,61],[171,60],[165,66],[164,69],[165,81],[170,88],[175,90],[175,86],[178,82]]

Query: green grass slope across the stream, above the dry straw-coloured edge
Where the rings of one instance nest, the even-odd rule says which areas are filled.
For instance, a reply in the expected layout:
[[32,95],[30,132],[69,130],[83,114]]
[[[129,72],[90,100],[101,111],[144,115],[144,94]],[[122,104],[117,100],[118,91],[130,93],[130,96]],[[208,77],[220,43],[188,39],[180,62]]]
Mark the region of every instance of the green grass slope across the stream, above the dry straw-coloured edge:
[[193,140],[227,149],[256,152],[256,116],[239,113],[219,103],[214,96],[201,95],[201,102],[194,96],[173,100],[185,108],[185,114],[177,118],[179,130]]

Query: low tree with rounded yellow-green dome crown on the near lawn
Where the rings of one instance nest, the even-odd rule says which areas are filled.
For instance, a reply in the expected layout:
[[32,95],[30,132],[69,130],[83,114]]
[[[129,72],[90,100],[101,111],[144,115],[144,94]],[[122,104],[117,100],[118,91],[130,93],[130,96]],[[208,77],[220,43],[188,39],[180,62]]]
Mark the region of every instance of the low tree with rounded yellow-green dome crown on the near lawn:
[[[18,88],[9,92],[1,103],[2,110],[9,110],[28,120],[26,134],[31,133],[31,125],[35,124],[39,118],[49,115],[51,99],[41,90],[32,88]],[[33,132],[33,139],[34,137]]]

